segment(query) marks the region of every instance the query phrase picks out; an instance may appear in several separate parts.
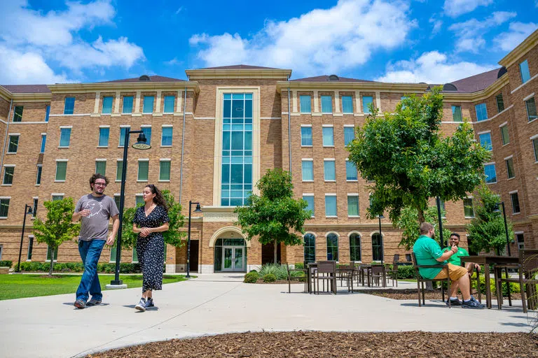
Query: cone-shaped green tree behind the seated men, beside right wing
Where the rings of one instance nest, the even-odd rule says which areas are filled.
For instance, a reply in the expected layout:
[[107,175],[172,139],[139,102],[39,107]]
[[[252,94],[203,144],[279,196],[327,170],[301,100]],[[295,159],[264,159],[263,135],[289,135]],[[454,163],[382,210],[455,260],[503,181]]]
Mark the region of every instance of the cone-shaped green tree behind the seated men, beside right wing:
[[[494,212],[499,196],[493,194],[485,184],[481,185],[477,194],[479,205],[476,206],[474,219],[467,224],[469,248],[476,252],[490,252],[492,249],[503,252],[506,248],[504,217],[502,213]],[[508,237],[513,238],[512,223],[506,221],[506,224]]]

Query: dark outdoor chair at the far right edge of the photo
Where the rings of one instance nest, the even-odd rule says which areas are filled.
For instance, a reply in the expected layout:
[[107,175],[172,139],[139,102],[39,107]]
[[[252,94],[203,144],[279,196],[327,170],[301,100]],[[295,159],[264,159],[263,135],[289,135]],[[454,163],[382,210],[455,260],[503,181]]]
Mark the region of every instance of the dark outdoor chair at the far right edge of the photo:
[[[518,270],[517,278],[502,278],[502,268],[516,268]],[[502,282],[506,282],[510,285],[510,282],[519,284],[521,292],[521,301],[523,302],[523,313],[527,313],[527,299],[530,301],[529,306],[531,309],[537,307],[536,285],[538,285],[538,279],[536,274],[538,272],[538,250],[521,249],[519,250],[519,263],[517,265],[497,265],[495,266],[495,289],[497,292],[497,306],[499,310],[502,306]],[[525,289],[526,285],[527,289]],[[526,294],[526,297],[525,297]],[[512,306],[512,302],[509,296],[509,305]]]

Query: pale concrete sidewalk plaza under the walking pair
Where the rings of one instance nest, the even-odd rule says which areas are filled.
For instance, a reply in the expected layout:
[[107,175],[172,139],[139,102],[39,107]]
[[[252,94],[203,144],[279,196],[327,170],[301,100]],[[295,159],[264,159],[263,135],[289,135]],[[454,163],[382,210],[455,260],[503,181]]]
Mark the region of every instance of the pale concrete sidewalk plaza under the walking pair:
[[[195,274],[196,275],[196,274]],[[447,308],[369,294],[304,294],[303,285],[249,285],[240,274],[203,274],[163,286],[157,308],[134,307],[140,288],[104,292],[104,304],[76,310],[74,294],[0,301],[4,357],[81,357],[170,338],[244,331],[530,331],[536,312]],[[402,282],[403,284],[403,282]],[[405,282],[400,285],[413,285]],[[361,287],[360,287],[361,288]],[[441,323],[442,322],[442,323]]]

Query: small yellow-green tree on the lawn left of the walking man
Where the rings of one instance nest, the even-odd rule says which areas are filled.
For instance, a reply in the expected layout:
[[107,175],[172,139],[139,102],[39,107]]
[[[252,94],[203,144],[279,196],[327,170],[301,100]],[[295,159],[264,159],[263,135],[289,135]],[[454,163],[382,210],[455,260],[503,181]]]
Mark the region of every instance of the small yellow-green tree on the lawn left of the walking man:
[[43,222],[36,218],[34,221],[34,236],[38,243],[46,243],[50,250],[50,269],[48,275],[53,275],[54,252],[67,240],[73,240],[81,231],[80,222],[71,222],[75,210],[73,198],[45,201],[47,220]]

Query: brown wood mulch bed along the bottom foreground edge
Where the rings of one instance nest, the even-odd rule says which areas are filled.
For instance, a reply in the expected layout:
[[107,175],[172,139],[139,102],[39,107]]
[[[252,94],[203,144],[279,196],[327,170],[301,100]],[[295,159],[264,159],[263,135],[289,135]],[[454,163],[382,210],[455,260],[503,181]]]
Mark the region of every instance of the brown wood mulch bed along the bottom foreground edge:
[[247,332],[148,343],[89,357],[538,357],[536,334]]

